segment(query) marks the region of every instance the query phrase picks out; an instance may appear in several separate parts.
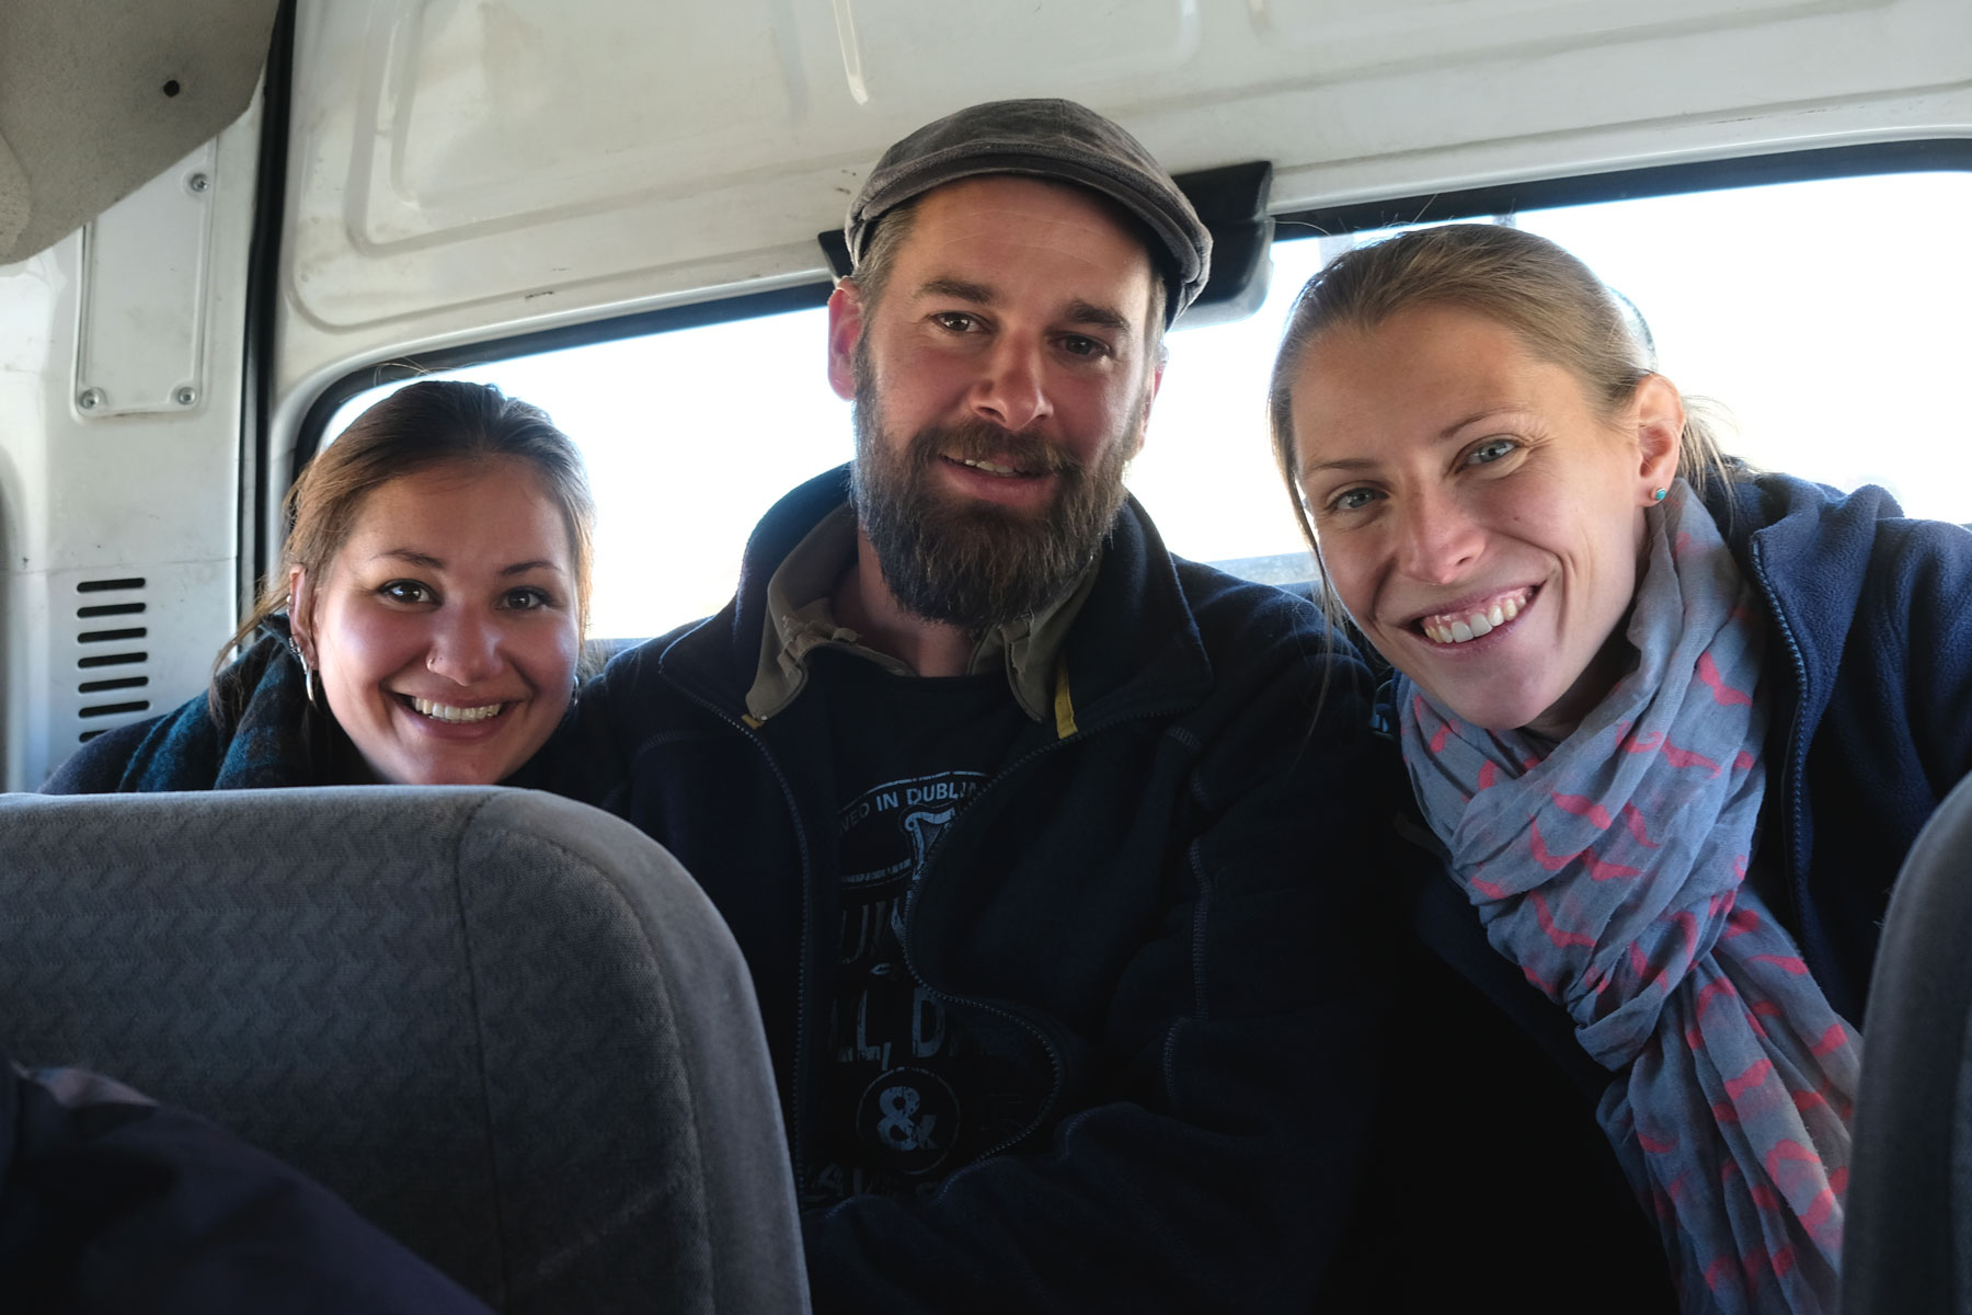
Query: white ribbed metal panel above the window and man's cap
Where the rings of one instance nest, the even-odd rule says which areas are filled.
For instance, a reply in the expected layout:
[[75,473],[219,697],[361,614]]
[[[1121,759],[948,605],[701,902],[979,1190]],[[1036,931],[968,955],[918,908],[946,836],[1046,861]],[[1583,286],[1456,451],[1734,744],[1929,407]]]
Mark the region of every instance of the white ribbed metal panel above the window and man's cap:
[[881,148],[1069,95],[1274,207],[1972,128],[1964,0],[302,0],[280,422],[363,361],[826,278]]

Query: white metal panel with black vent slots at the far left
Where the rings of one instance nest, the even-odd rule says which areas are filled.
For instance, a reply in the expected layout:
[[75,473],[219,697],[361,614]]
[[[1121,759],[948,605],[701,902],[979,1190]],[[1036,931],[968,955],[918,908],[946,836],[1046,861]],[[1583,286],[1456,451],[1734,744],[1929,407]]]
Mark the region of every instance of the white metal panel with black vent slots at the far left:
[[258,122],[0,266],[4,789],[205,688],[235,625]]

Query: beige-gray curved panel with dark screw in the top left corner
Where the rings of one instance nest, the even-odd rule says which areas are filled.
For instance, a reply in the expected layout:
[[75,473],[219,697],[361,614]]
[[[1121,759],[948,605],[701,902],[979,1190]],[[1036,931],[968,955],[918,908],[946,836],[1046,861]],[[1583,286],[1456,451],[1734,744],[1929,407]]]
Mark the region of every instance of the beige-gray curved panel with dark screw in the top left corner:
[[239,118],[276,8],[0,6],[0,264],[59,242]]

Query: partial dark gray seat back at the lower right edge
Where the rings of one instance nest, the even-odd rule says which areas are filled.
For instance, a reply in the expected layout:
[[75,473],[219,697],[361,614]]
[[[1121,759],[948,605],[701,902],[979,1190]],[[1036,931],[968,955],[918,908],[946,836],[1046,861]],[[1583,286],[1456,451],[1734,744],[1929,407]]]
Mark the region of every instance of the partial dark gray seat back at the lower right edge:
[[1844,1315],[1972,1313],[1972,779],[1883,923],[1842,1240]]

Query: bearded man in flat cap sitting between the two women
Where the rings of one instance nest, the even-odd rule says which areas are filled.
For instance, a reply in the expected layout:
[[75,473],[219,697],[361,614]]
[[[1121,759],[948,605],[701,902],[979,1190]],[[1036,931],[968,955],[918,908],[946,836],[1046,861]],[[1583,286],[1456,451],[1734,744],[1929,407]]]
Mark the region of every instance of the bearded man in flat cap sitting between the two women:
[[846,237],[856,459],[584,692],[586,793],[747,956],[816,1309],[1305,1307],[1390,806],[1317,609],[1124,493],[1207,229],[1114,122],[1008,101],[893,146]]

